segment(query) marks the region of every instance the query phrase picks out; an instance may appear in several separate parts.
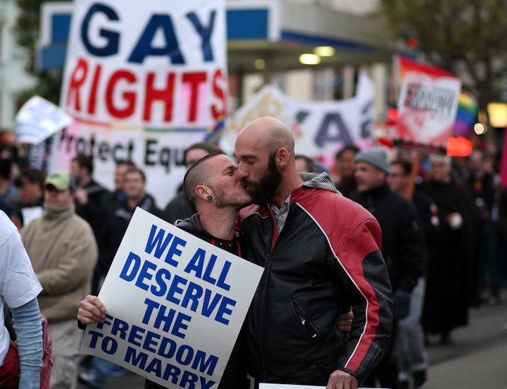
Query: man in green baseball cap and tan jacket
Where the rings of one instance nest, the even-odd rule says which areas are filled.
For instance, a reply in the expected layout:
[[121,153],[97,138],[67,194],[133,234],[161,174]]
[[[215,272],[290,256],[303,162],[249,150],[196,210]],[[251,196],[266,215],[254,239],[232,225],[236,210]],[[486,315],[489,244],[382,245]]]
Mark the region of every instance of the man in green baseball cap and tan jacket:
[[89,294],[98,249],[89,223],[75,213],[75,185],[69,173],[44,180],[44,213],[21,230],[23,245],[43,291],[40,311],[48,319],[53,346],[51,385],[71,388],[79,372],[79,304]]

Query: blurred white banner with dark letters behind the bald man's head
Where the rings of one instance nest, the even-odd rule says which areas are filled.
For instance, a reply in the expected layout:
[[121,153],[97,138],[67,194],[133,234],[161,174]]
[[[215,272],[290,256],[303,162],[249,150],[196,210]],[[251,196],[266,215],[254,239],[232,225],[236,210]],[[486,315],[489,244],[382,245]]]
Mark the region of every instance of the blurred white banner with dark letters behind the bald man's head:
[[346,144],[365,148],[373,144],[373,82],[361,73],[356,95],[338,101],[296,101],[274,85],[263,87],[227,123],[221,144],[234,149],[237,133],[253,119],[274,116],[294,133],[296,154],[332,164],[334,154]]

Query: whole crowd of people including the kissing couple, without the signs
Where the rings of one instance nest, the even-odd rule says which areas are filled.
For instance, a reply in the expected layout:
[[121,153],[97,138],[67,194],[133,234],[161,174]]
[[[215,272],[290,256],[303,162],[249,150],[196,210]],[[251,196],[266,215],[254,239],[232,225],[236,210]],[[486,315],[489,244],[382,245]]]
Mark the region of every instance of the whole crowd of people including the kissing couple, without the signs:
[[[437,335],[452,342],[470,307],[498,304],[506,280],[507,189],[483,149],[458,166],[443,155],[347,144],[326,168],[294,154],[282,122],[259,118],[239,133],[235,161],[206,142],[188,147],[184,181],[165,206],[132,161],[116,161],[109,191],[94,180],[92,156],[45,175],[15,153],[0,155],[0,249],[11,258],[1,277],[16,271],[32,285],[18,296],[16,283],[0,284],[9,308],[0,319],[33,324],[32,332],[15,326],[18,347],[0,331],[0,362],[16,347],[22,381],[40,369],[39,343],[25,346],[40,333],[39,311],[53,340],[51,388],[76,388],[78,378],[100,388],[124,372],[93,357],[79,374],[79,347],[82,328],[105,319],[96,295],[137,206],[265,268],[220,389],[249,388],[248,376],[425,388],[426,347]],[[14,256],[24,258],[22,271]]]

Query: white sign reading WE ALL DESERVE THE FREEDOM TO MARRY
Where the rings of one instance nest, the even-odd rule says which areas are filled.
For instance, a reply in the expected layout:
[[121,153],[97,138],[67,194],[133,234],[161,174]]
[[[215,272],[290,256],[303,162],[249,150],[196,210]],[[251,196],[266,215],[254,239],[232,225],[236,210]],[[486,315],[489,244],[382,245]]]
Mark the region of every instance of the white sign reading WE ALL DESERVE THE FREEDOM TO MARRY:
[[137,208],[81,352],[168,388],[217,388],[263,268]]

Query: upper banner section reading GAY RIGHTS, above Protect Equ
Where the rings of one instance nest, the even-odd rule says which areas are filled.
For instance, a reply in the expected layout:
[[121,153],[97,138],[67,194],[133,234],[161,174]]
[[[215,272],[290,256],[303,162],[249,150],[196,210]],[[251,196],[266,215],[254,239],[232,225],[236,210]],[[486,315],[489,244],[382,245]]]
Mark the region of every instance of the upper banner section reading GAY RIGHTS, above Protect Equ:
[[227,113],[224,0],[75,0],[60,105],[89,123],[208,128]]

